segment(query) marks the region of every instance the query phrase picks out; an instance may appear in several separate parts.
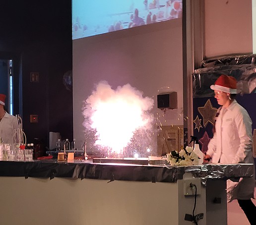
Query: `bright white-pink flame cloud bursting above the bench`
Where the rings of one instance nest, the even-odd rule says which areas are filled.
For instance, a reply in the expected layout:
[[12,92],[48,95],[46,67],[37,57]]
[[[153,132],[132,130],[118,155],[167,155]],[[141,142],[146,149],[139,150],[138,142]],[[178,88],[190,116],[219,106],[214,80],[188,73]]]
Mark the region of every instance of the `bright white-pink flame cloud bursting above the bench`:
[[153,100],[129,84],[113,90],[107,82],[100,82],[85,101],[83,115],[86,128],[96,131],[96,145],[109,147],[120,153],[138,129],[149,129]]

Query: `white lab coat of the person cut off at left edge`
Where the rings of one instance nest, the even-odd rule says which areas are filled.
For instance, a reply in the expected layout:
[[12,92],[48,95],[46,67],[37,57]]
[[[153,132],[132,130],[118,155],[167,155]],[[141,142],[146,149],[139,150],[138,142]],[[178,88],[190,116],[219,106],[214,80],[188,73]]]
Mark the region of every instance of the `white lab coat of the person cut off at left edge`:
[[5,112],[4,116],[0,121],[0,137],[3,139],[5,144],[12,143],[12,136],[14,129],[18,128],[16,117]]

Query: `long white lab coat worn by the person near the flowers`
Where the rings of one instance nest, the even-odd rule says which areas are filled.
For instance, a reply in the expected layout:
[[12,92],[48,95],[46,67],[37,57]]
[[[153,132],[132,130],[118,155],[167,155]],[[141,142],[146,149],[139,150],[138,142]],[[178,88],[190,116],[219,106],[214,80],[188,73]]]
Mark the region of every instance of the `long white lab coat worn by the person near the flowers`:
[[[253,163],[252,119],[248,112],[234,100],[222,107],[215,124],[215,133],[206,154],[212,163]],[[227,200],[254,198],[255,175],[240,178],[239,182],[227,180]]]

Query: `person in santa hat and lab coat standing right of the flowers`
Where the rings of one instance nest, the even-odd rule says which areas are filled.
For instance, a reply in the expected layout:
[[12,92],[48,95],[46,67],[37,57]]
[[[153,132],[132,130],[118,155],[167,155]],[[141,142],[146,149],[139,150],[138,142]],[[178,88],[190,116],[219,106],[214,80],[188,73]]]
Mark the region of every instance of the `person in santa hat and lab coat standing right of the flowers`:
[[[212,163],[253,163],[252,119],[237,103],[237,82],[234,77],[221,75],[210,88],[221,108],[216,113],[215,133],[204,157]],[[227,180],[227,201],[238,200],[249,222],[256,225],[254,198],[255,174],[236,180]]]

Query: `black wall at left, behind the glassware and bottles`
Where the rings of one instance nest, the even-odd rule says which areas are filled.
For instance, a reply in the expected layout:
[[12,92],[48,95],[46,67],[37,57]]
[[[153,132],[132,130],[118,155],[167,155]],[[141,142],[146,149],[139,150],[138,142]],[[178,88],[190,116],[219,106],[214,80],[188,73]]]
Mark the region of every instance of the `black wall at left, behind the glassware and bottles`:
[[[27,142],[40,138],[48,146],[49,132],[72,139],[71,0],[8,0],[1,3],[0,57],[15,57],[15,113],[23,118]],[[30,73],[39,82],[30,82]],[[38,123],[30,123],[37,114]]]

